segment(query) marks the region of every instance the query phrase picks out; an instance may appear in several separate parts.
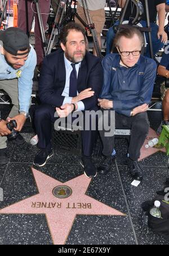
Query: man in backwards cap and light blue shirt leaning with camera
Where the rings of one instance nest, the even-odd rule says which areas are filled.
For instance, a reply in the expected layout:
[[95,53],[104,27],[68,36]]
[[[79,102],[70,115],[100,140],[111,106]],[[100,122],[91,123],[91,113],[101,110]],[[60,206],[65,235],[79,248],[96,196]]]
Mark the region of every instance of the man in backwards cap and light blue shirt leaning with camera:
[[[6,135],[11,134],[6,125],[10,120],[16,120],[16,131],[21,131],[29,116],[37,57],[29,44],[28,36],[19,28],[11,27],[0,31],[0,42],[0,89],[11,97],[13,104],[6,121],[0,116],[0,164],[5,164],[8,162]],[[23,144],[24,139],[19,135],[14,142]]]

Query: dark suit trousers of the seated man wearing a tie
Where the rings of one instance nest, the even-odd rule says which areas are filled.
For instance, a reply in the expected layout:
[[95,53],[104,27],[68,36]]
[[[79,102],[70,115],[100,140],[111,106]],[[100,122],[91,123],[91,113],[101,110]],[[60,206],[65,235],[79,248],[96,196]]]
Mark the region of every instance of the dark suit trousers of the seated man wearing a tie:
[[[96,111],[97,109],[94,110]],[[35,128],[37,130],[39,139],[38,147],[48,151],[50,151],[52,148],[52,123],[55,123],[55,121],[58,119],[57,117],[54,117],[55,112],[55,108],[48,104],[40,105],[35,111]],[[85,122],[85,116],[83,121]],[[89,120],[89,122],[91,122],[91,120]],[[92,155],[96,141],[96,135],[96,130],[82,131],[82,147],[84,156]]]

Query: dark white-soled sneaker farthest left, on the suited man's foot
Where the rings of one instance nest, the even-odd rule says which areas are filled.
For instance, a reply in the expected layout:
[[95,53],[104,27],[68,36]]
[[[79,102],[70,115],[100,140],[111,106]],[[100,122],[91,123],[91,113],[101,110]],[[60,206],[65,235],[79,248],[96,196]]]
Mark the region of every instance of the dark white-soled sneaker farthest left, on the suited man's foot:
[[43,167],[46,165],[47,160],[50,159],[54,155],[54,151],[51,150],[51,152],[48,152],[47,150],[41,150],[34,159],[33,164],[38,167]]

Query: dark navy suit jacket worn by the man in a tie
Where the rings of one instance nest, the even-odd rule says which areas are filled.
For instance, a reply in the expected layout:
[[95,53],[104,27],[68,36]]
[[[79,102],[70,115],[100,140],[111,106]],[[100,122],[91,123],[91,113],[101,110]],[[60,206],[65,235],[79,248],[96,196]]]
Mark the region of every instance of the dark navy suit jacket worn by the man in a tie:
[[[61,96],[65,88],[66,69],[63,50],[48,55],[43,60],[41,76],[39,79],[39,97],[43,104],[55,107],[63,105],[65,99]],[[82,100],[84,110],[94,109],[103,86],[103,68],[100,59],[90,53],[86,53],[78,73],[78,93],[84,89],[92,88],[95,95]]]

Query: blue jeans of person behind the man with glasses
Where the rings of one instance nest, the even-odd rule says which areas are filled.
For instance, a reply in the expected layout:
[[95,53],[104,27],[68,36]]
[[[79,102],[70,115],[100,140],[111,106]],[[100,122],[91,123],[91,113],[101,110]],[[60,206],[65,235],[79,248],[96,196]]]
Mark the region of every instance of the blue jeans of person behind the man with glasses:
[[[140,24],[143,27],[146,27],[146,22],[145,20],[141,20]],[[119,21],[114,24],[119,25]],[[152,28],[152,42],[153,42],[153,54],[155,55],[161,48],[164,46],[164,44],[161,42],[161,40],[158,39],[157,33],[158,33],[158,25],[155,23],[150,23],[151,28]],[[113,40],[115,37],[115,32],[113,27],[109,28],[109,31],[106,36],[106,54],[109,54],[112,50],[112,44]],[[146,42],[149,44],[149,36],[148,33],[145,33],[146,37]],[[146,47],[146,53],[144,54],[146,57],[150,57],[150,50],[149,50],[149,45]]]

